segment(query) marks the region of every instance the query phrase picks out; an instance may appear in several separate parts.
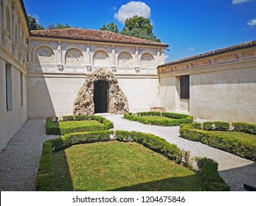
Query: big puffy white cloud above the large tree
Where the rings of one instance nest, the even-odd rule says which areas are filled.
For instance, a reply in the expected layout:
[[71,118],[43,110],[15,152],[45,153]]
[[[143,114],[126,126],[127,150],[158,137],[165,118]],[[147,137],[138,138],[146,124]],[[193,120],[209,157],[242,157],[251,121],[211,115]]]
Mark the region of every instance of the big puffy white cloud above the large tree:
[[151,7],[148,7],[148,5],[142,1],[130,1],[120,7],[118,12],[114,14],[114,18],[120,23],[125,24],[126,18],[131,18],[134,15],[150,18]]

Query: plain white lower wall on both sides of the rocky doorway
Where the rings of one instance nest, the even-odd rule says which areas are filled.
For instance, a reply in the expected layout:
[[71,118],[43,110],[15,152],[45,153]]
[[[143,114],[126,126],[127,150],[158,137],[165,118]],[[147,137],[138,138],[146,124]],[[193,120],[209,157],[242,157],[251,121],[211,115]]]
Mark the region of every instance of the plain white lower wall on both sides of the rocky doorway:
[[[67,116],[73,114],[73,105],[84,78],[28,77],[28,116],[30,118]],[[157,78],[118,78],[120,88],[128,98],[131,112],[148,111],[159,107]]]

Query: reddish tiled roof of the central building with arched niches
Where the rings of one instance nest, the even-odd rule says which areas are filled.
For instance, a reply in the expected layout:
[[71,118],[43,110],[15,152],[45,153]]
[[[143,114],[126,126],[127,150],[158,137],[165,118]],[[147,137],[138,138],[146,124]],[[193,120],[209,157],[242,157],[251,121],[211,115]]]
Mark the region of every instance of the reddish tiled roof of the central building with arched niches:
[[89,40],[101,41],[111,43],[132,43],[150,46],[168,46],[166,43],[159,43],[151,40],[129,37],[120,35],[114,32],[91,30],[91,29],[45,29],[45,30],[32,30],[32,36],[44,38],[63,38],[72,40]]

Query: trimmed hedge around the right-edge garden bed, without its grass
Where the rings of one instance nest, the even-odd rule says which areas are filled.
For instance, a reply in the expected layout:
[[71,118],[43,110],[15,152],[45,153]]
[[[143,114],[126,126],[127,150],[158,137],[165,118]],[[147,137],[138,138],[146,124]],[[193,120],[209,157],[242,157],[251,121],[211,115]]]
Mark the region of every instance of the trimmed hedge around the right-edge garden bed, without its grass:
[[[205,125],[207,125],[207,127],[204,127]],[[227,126],[227,124],[224,124],[224,125]],[[234,125],[234,123],[232,123],[232,125],[236,128],[234,129],[234,131],[239,131],[239,132],[244,132],[248,128],[246,126],[244,126],[243,128],[238,127],[236,126],[236,124]],[[241,123],[239,123],[238,125],[241,125]],[[245,125],[248,125],[248,124],[245,124]],[[199,127],[198,124],[181,124],[181,127],[179,129],[180,137],[188,139],[190,141],[198,141],[198,142],[207,144],[214,148],[221,149],[226,152],[230,152],[232,154],[238,155],[239,157],[243,157],[248,160],[252,160],[252,161],[256,160],[255,146],[251,146],[249,144],[243,143],[238,140],[230,141],[224,138],[221,134],[213,135],[212,132],[198,129],[198,127]],[[210,123],[207,122],[203,124],[203,129],[213,130],[212,128],[216,128],[215,122],[210,122]],[[226,127],[225,128],[221,127],[221,129],[226,129]],[[216,128],[215,130],[220,130],[220,128]],[[226,131],[226,130],[221,130],[221,131]],[[252,130],[249,130],[249,132],[247,133],[254,134]]]

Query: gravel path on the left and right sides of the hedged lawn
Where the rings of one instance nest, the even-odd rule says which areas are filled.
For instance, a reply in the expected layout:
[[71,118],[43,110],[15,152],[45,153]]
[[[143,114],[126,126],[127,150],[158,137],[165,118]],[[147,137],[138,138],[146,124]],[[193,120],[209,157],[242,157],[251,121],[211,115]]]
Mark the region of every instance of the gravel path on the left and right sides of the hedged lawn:
[[[152,133],[189,150],[191,157],[210,157],[219,163],[219,173],[232,191],[243,191],[243,184],[256,186],[256,163],[213,149],[202,143],[179,138],[179,127],[158,127],[122,119],[122,115],[105,116],[114,129]],[[0,191],[35,191],[35,178],[42,143],[56,138],[44,135],[45,119],[30,119],[0,152]]]

